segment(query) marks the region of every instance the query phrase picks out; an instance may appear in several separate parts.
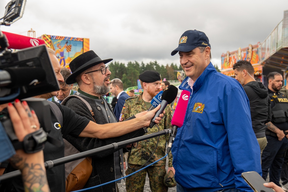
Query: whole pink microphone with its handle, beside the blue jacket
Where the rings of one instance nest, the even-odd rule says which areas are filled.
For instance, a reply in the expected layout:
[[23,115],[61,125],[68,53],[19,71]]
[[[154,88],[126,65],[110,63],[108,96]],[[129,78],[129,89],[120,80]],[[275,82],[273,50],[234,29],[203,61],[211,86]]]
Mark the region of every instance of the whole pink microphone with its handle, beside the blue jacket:
[[179,101],[177,102],[177,107],[175,109],[171,124],[173,125],[172,132],[169,138],[169,143],[167,147],[167,153],[171,151],[172,144],[177,134],[177,128],[183,126],[185,113],[187,110],[188,102],[189,102],[190,92],[187,90],[183,90]]

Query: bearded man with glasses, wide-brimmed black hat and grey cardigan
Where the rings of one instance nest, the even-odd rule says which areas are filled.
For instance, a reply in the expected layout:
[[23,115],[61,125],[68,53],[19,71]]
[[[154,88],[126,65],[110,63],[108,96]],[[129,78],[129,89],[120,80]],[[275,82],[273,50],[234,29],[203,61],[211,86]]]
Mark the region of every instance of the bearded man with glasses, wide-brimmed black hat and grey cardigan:
[[[111,60],[112,59],[102,60],[94,53],[94,51],[90,50],[79,55],[69,64],[72,74],[67,78],[66,83],[78,83],[79,89],[76,92],[76,95],[82,97],[90,104],[94,117],[91,115],[91,112],[87,108],[86,104],[79,98],[70,98],[65,103],[65,106],[69,107],[77,114],[86,117],[91,121],[95,121],[98,124],[117,122],[110,105],[103,98],[103,95],[110,92],[109,79],[111,72],[109,71],[109,66],[105,66],[105,64]],[[130,117],[130,119],[131,118],[134,117]],[[110,130],[107,129],[107,132],[109,131]],[[79,151],[87,151],[114,142],[139,137],[143,134],[145,134],[144,129],[140,129],[129,134],[110,139],[75,138],[72,136],[67,136],[66,139]],[[122,148],[106,151],[92,156],[92,167],[92,174],[84,188],[100,185],[115,180],[115,178],[121,178],[124,175]],[[121,180],[118,182],[120,183]],[[114,182],[92,189],[92,191],[116,191],[116,189],[118,189],[118,187]]]

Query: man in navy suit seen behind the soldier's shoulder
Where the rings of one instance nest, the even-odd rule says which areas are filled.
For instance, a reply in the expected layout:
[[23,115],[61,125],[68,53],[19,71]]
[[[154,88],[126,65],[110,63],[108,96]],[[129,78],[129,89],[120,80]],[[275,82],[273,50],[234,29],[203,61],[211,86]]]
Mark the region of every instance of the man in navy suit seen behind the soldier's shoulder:
[[123,117],[121,114],[123,105],[125,100],[128,99],[130,96],[123,90],[123,83],[120,79],[116,78],[110,81],[110,92],[117,97],[117,102],[114,108],[114,114],[117,121],[122,121]]

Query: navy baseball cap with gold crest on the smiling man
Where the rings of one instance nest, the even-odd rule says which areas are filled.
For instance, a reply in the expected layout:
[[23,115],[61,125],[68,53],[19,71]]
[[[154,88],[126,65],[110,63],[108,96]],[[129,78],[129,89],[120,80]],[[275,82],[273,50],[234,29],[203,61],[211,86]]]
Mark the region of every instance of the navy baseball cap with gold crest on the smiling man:
[[211,49],[211,45],[209,44],[209,39],[206,34],[202,31],[188,30],[185,31],[181,38],[179,39],[178,47],[171,52],[171,55],[175,55],[177,52],[189,52],[194,50],[196,47],[207,47],[209,46]]

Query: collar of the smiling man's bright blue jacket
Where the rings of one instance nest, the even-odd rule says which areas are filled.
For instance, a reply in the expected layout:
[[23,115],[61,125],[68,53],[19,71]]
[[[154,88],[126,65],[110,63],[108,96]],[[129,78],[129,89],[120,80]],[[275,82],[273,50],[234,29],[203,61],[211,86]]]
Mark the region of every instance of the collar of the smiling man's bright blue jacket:
[[[210,77],[213,73],[217,73],[217,71],[213,64],[210,62],[209,65],[204,69],[203,73],[198,77],[198,79],[196,79],[193,85],[193,92],[197,92],[197,90],[200,89],[206,79],[208,79],[208,77]],[[186,77],[181,83],[181,85],[179,85],[179,89],[192,91],[190,85],[188,85],[189,79],[190,77]]]

